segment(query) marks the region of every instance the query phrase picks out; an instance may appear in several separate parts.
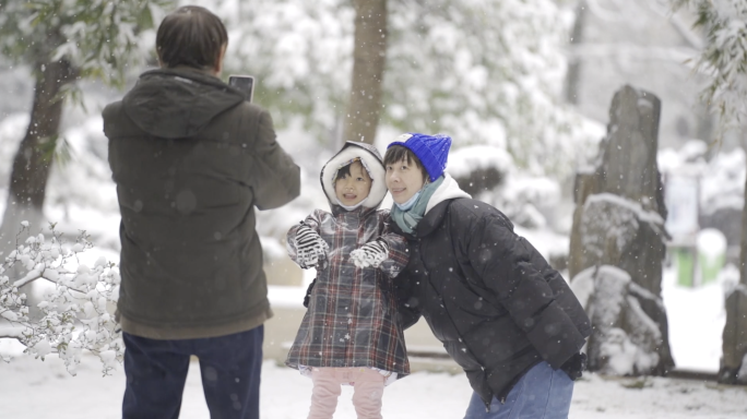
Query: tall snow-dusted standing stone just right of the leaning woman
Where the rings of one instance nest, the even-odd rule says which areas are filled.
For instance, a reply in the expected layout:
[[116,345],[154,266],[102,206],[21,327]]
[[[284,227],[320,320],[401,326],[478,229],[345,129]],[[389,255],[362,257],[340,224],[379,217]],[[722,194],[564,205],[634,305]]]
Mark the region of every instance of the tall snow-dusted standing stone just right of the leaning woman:
[[[633,285],[619,287],[624,295],[617,299],[592,295],[586,301],[588,312],[594,312],[597,319],[628,319],[612,330],[608,324],[594,325],[592,319],[592,325],[597,327],[589,340],[592,370],[596,366],[607,373],[665,374],[674,367],[661,297],[662,261],[668,237],[656,165],[660,113],[661,101],[653,94],[628,85],[620,88],[613,98],[607,135],[600,144],[594,166],[577,176],[570,277],[576,278],[586,268],[614,266],[627,273]],[[596,287],[594,292],[602,288]],[[609,315],[600,311],[609,311]],[[631,315],[642,318],[632,322]],[[636,337],[640,331],[635,324],[641,322],[655,324],[659,333],[649,333],[645,339]],[[647,355],[655,362],[639,363],[626,372],[602,369],[609,366],[609,359],[605,359],[609,357],[608,348],[619,342],[637,345],[639,356]]]

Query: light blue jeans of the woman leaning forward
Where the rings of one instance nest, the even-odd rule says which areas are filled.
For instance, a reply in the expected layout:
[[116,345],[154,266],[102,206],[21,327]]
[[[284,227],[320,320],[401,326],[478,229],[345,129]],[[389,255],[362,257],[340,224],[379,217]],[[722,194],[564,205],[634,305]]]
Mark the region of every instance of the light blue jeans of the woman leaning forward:
[[573,382],[547,362],[534,366],[511,388],[506,404],[496,397],[490,411],[477,393],[472,394],[464,419],[567,419],[573,396]]

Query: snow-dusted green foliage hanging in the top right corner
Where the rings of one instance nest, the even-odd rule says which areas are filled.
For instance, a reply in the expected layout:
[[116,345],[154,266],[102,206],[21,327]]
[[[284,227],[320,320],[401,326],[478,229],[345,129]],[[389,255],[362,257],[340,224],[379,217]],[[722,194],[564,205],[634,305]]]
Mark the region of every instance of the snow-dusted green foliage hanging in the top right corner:
[[740,125],[747,117],[747,0],[672,0],[691,8],[706,45],[696,69],[712,76],[702,97],[721,116],[720,130]]

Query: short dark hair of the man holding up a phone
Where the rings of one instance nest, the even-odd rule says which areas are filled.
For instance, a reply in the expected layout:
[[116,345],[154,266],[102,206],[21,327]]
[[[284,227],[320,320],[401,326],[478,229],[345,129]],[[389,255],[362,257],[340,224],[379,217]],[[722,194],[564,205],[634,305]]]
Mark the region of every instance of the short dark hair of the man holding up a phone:
[[213,69],[221,48],[228,45],[223,22],[199,5],[185,5],[164,17],[156,34],[156,51],[162,65]]

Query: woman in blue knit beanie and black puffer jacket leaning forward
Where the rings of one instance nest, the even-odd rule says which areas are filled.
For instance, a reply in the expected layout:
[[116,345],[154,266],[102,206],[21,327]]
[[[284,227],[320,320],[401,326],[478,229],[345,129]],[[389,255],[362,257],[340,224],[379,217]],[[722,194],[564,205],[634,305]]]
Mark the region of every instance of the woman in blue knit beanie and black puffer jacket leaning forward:
[[451,139],[403,134],[384,155],[404,327],[426,319],[474,390],[465,419],[568,418],[590,321],[560,274],[500,211],[444,172]]

